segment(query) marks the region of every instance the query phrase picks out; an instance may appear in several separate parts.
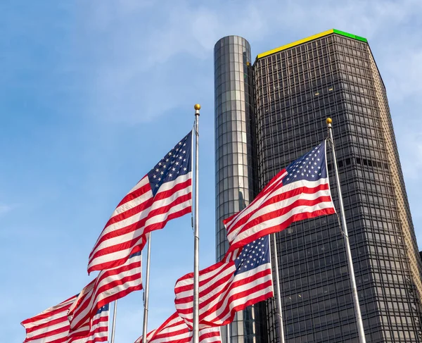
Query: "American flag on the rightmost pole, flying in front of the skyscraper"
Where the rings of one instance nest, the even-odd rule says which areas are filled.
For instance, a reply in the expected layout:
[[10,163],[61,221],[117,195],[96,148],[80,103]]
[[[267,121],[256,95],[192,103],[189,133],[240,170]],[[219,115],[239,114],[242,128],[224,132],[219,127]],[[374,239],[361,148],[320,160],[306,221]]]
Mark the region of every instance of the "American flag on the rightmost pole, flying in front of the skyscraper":
[[335,213],[326,167],[326,142],[281,170],[242,211],[224,220],[233,251],[290,223]]

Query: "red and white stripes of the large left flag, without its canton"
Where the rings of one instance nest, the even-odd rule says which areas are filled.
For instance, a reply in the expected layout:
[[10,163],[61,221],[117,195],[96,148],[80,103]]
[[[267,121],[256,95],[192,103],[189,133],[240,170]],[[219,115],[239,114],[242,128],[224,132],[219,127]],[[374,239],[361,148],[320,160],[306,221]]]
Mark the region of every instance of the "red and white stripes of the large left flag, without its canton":
[[191,212],[192,173],[161,185],[155,197],[148,175],[120,201],[89,255],[88,273],[119,266],[141,251],[143,237]]

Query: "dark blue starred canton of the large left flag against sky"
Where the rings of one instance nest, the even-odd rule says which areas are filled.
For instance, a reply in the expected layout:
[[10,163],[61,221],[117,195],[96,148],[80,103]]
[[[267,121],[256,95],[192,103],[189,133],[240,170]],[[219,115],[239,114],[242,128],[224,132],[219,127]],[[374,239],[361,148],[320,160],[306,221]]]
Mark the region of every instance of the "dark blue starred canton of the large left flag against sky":
[[151,169],[148,179],[154,197],[164,182],[173,181],[178,176],[185,175],[192,170],[191,150],[192,132],[189,132]]

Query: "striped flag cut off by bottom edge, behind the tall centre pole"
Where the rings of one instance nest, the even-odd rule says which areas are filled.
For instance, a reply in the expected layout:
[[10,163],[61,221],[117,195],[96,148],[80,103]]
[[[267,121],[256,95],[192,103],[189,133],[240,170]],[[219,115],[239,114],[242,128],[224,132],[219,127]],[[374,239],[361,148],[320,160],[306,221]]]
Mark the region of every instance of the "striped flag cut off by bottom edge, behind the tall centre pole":
[[[142,336],[136,339],[135,343],[141,343]],[[190,343],[192,342],[192,330],[176,313],[173,313],[160,328],[155,329],[146,335],[148,343]],[[205,328],[199,330],[200,343],[221,343],[219,328]]]

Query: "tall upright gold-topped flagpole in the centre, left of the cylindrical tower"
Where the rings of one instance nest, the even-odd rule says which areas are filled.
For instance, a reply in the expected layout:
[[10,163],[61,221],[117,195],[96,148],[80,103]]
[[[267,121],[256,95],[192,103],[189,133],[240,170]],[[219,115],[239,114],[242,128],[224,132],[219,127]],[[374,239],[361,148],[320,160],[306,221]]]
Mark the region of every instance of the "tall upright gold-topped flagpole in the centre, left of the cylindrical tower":
[[199,110],[200,104],[195,108],[195,202],[193,218],[193,343],[199,343],[199,208],[198,208],[198,169],[199,169]]

